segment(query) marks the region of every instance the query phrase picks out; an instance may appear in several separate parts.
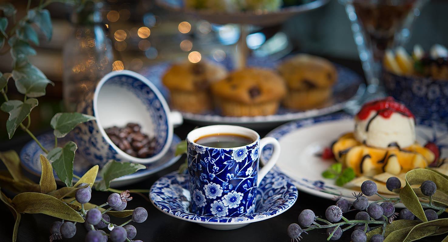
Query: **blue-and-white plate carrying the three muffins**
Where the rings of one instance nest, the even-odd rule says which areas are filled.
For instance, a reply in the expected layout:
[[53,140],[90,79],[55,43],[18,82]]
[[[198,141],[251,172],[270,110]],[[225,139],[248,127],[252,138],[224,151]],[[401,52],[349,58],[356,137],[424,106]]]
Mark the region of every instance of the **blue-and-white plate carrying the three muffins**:
[[[229,59],[229,60],[228,60]],[[211,62],[217,63],[215,60]],[[254,57],[250,57],[247,60],[248,66],[258,66],[264,68],[275,68],[280,60],[258,60]],[[233,63],[230,58],[226,58],[220,62],[227,69],[233,69]],[[165,62],[158,65],[149,66],[143,69],[140,74],[148,78],[152,83],[157,86],[160,92],[164,95],[165,99],[169,100],[169,91],[162,84],[162,78],[165,72],[170,68],[171,63]],[[361,96],[364,93],[365,88],[360,84],[364,83],[361,76],[355,73],[353,70],[335,64],[338,72],[338,80],[333,86],[332,99],[324,104],[320,108],[313,108],[304,111],[297,111],[289,108],[280,107],[275,115],[256,116],[256,117],[233,117],[233,116],[221,116],[219,110],[213,110],[205,114],[195,114],[191,112],[181,112],[184,120],[193,122],[198,125],[215,125],[215,124],[233,124],[241,125],[251,129],[265,129],[274,128],[287,121],[292,121],[307,117],[316,117],[332,112],[342,110],[349,103],[349,100],[354,99],[356,96]]]

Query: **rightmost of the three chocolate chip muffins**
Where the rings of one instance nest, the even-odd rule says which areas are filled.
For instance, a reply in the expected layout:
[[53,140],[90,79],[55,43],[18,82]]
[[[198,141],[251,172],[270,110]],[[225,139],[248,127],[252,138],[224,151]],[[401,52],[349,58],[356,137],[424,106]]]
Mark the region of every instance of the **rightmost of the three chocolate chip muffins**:
[[283,100],[287,108],[317,108],[329,101],[336,82],[335,66],[327,59],[308,54],[298,54],[285,60],[279,67],[288,86]]

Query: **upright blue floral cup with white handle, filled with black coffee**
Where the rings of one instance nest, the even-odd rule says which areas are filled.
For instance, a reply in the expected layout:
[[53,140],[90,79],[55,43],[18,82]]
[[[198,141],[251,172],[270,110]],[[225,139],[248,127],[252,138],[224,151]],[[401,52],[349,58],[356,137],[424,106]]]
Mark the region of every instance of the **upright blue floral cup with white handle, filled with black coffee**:
[[[201,127],[186,140],[190,212],[217,217],[254,213],[258,184],[276,164],[280,143],[234,125]],[[267,144],[273,146],[272,156],[258,170],[260,151]]]

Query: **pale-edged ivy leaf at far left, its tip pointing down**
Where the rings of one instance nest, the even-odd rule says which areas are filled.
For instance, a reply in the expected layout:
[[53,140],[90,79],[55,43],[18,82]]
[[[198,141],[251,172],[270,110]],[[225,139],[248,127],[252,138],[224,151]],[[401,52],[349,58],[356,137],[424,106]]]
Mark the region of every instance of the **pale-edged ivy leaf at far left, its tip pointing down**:
[[1,104],[0,109],[3,112],[9,113],[9,118],[6,121],[6,130],[9,138],[12,138],[17,127],[30,114],[31,110],[37,106],[37,99],[26,99],[25,103],[20,100],[9,100]]

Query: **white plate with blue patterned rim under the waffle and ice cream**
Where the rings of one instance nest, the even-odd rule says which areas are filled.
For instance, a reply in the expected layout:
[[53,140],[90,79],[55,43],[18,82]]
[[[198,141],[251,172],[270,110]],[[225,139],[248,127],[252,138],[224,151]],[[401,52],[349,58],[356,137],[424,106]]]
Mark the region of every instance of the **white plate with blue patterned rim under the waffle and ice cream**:
[[[416,126],[417,140],[425,144],[428,140],[441,147],[440,157],[448,156],[447,126],[445,124],[426,121]],[[299,190],[326,199],[342,196],[354,200],[353,192],[361,190],[356,187],[336,186],[334,179],[322,177],[322,172],[335,163],[333,160],[323,160],[317,154],[325,147],[330,147],[342,134],[353,132],[353,117],[345,113],[333,113],[326,116],[291,121],[272,130],[267,134],[279,140],[281,154],[276,166],[293,179]],[[266,147],[262,158],[267,160],[271,148]],[[385,197],[397,197],[384,195]],[[367,197],[370,202],[380,199],[378,196]],[[403,206],[401,203],[398,206]]]

